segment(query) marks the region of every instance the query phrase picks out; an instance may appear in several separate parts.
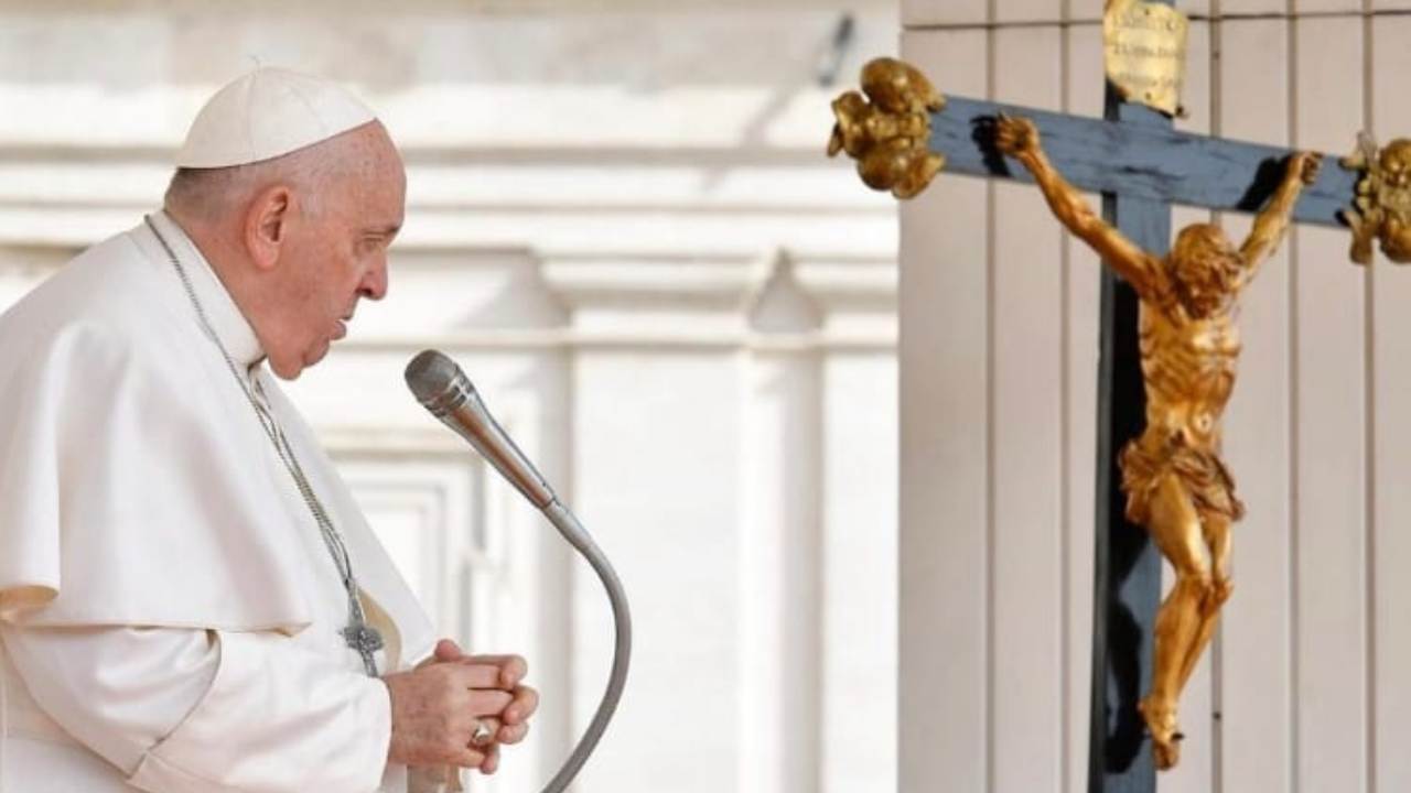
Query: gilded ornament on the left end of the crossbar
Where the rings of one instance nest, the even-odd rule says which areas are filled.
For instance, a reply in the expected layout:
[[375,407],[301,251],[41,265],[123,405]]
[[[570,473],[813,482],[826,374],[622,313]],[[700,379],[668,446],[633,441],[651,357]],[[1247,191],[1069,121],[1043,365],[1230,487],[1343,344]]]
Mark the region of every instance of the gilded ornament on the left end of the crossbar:
[[931,113],[944,106],[945,99],[916,66],[878,58],[862,68],[862,93],[849,90],[832,102],[837,124],[828,157],[845,151],[858,161],[869,188],[913,198],[945,165],[928,148]]

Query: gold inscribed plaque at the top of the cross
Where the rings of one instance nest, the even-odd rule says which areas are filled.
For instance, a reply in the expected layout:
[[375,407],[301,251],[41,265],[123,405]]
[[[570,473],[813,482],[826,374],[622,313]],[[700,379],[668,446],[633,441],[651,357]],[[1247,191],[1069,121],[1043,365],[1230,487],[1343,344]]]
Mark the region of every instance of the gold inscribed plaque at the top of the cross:
[[1102,18],[1108,82],[1126,102],[1178,114],[1187,28],[1185,16],[1170,6],[1108,0]]

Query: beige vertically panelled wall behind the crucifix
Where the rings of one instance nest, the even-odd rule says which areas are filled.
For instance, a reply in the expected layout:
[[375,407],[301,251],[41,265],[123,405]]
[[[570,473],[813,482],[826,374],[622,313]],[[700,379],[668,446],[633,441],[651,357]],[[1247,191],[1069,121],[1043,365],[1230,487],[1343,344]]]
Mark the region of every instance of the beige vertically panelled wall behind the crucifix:
[[[909,0],[902,49],[943,93],[1101,116],[1101,7]],[[1178,127],[1332,155],[1411,128],[1405,1],[1178,7],[1195,20]],[[900,786],[1075,793],[1098,264],[1026,186],[943,174],[902,217]],[[1355,268],[1348,241],[1300,230],[1245,296],[1225,449],[1249,516],[1164,793],[1411,787],[1411,272]]]

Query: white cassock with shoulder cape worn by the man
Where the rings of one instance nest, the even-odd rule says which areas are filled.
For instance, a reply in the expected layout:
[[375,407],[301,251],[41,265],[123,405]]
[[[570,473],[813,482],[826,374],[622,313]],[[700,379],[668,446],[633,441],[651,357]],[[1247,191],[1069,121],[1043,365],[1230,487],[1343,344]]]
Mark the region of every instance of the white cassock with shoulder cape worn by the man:
[[[378,670],[433,634],[254,332],[154,214],[341,532]],[[255,411],[145,226],[0,316],[0,792],[396,792],[387,687]]]

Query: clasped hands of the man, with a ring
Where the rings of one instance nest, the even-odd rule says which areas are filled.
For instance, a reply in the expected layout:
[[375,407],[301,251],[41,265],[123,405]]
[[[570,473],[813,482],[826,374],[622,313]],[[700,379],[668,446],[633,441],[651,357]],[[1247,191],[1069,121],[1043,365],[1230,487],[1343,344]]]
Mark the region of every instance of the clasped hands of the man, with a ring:
[[499,746],[523,741],[539,707],[538,691],[521,686],[528,669],[516,655],[464,655],[456,642],[442,639],[416,669],[387,674],[382,682],[392,700],[388,761],[495,773]]

